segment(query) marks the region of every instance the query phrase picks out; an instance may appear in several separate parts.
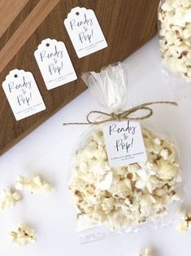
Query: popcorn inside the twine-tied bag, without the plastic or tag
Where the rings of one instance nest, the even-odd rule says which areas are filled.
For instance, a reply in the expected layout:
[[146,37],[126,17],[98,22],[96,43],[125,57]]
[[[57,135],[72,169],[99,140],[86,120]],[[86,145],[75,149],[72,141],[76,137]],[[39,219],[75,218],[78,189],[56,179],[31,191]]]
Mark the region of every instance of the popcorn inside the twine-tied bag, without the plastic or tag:
[[[180,201],[181,183],[176,147],[142,128],[147,161],[111,168],[101,129],[93,130],[76,151],[69,189],[80,219],[106,224],[111,230],[156,221],[167,215],[173,201]],[[81,220],[80,220],[81,221]]]

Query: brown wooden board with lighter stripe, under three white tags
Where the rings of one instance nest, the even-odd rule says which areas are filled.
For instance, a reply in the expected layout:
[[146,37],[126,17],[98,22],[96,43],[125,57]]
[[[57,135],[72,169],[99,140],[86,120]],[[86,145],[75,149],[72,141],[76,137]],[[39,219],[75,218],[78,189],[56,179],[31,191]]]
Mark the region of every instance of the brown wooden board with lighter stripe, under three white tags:
[[[154,37],[157,31],[158,2],[159,0],[26,0],[16,17],[13,11],[14,20],[12,23],[9,20],[10,24],[5,26],[0,39],[0,84],[11,69],[32,72],[46,110],[15,121],[0,86],[0,154],[80,95],[86,89],[85,83],[80,79],[81,73],[99,71],[107,64],[124,60]],[[108,44],[105,49],[81,59],[78,59],[63,25],[67,13],[77,6],[93,9]],[[1,21],[6,19],[7,11],[1,11],[0,15]],[[78,76],[75,82],[53,90],[46,89],[33,55],[37,46],[46,38],[65,43]]]

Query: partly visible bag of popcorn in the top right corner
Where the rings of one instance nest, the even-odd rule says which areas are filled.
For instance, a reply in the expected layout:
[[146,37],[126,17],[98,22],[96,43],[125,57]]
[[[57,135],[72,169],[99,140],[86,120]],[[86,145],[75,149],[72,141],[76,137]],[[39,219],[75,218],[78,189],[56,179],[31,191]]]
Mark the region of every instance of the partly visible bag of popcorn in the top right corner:
[[161,0],[158,34],[164,71],[172,80],[191,82],[191,1]]

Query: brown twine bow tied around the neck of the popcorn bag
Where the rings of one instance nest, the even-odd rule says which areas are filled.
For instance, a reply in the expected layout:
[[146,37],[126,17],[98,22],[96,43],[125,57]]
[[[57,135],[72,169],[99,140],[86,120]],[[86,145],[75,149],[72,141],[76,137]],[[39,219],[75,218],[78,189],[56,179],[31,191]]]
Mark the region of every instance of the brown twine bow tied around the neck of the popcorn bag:
[[[63,126],[67,126],[67,125],[101,125],[107,121],[145,120],[145,119],[150,118],[153,115],[153,109],[148,106],[154,105],[154,104],[171,104],[174,106],[178,105],[174,101],[155,101],[155,102],[148,102],[145,104],[138,105],[136,107],[125,110],[124,112],[121,112],[121,113],[111,113],[110,114],[110,113],[93,110],[88,113],[88,115],[86,117],[87,122],[66,122],[66,123],[63,123]],[[136,113],[139,110],[144,110],[145,114],[143,114],[141,117],[131,117],[132,113]],[[103,116],[106,116],[108,118],[106,118],[102,121],[91,121],[90,116],[95,113],[102,114]]]

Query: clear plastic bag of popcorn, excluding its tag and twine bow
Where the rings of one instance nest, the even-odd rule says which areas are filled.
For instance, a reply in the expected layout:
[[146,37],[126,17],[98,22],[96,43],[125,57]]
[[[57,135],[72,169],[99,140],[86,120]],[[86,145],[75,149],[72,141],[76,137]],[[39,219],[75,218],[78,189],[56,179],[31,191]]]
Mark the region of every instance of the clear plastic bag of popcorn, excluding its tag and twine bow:
[[[120,113],[128,102],[126,73],[122,64],[116,64],[101,73],[85,73],[82,78],[106,112]],[[182,194],[176,144],[142,122],[147,160],[111,167],[103,126],[93,125],[85,132],[73,157],[69,189],[80,242],[173,223]]]

